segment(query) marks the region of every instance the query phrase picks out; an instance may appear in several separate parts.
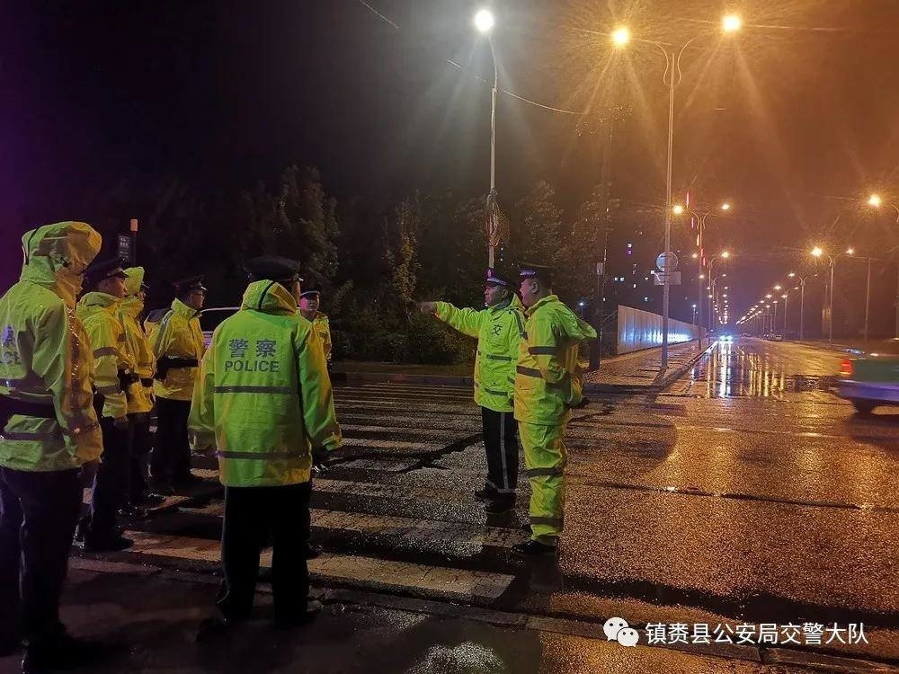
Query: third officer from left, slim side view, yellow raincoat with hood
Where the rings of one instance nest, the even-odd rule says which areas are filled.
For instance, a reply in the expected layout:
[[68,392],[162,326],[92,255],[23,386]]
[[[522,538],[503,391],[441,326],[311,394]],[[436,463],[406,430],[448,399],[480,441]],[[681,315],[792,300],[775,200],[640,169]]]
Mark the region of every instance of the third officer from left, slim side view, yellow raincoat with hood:
[[131,421],[131,468],[128,485],[128,505],[124,514],[139,515],[142,506],[159,505],[165,499],[150,493],[147,485],[147,456],[150,452],[150,412],[153,411],[153,375],[156,373],[156,356],[140,324],[144,311],[147,286],[144,284],[144,268],[125,270],[125,299],[119,309],[119,320],[125,328],[125,341],[134,359],[137,377],[128,386],[128,417]]

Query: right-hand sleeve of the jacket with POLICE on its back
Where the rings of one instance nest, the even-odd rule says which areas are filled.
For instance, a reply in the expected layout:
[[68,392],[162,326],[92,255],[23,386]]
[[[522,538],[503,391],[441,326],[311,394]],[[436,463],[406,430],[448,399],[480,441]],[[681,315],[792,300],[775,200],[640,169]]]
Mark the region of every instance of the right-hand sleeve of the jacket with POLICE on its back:
[[315,330],[299,329],[294,333],[297,352],[297,380],[299,404],[312,448],[334,451],[343,445],[337,414],[334,412],[334,392],[328,377],[325,351]]

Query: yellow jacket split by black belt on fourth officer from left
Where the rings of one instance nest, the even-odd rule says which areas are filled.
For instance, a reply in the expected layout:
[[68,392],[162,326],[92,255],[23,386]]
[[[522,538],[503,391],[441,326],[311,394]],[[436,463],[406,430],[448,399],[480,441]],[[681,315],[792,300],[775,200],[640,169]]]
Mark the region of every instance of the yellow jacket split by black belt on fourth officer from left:
[[147,321],[145,326],[157,363],[159,359],[168,356],[196,360],[198,366],[168,368],[165,378],[156,379],[153,383],[153,392],[160,398],[191,400],[193,383],[205,350],[200,330],[200,312],[191,309],[180,299],[175,299],[172,308],[165,312],[159,323]]

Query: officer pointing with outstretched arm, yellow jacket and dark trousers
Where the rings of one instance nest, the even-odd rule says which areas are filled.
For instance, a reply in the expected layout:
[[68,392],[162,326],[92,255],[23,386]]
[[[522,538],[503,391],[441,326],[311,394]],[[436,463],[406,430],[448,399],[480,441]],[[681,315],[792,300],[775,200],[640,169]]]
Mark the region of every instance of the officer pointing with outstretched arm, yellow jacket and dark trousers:
[[476,497],[487,501],[488,514],[501,514],[515,505],[518,486],[517,424],[512,414],[515,360],[524,336],[521,300],[508,277],[487,270],[485,309],[458,309],[449,302],[423,302],[425,314],[436,315],[460,333],[477,338],[475,402],[481,406],[487,478]]

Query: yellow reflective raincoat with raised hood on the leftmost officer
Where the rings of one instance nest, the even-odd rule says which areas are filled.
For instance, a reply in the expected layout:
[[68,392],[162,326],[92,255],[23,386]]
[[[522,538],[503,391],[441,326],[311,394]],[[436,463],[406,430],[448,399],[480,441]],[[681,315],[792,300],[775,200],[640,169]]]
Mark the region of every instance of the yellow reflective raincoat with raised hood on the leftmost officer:
[[22,237],[22,275],[0,298],[0,395],[52,405],[56,418],[13,414],[0,435],[0,466],[70,470],[102,453],[93,357],[75,310],[81,274],[101,244],[83,222],[45,225]]

